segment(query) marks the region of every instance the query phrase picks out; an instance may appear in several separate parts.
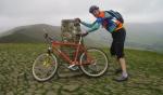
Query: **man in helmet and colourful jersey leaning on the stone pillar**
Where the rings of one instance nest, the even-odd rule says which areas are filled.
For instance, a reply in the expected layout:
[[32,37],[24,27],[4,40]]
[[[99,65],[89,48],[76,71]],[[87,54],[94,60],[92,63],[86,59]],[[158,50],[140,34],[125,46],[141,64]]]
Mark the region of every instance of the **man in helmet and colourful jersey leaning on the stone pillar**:
[[83,36],[87,36],[88,33],[99,29],[100,26],[104,27],[109,32],[111,32],[113,38],[113,42],[110,49],[111,55],[115,55],[117,57],[117,62],[121,65],[121,69],[116,69],[115,72],[122,72],[122,76],[116,78],[115,81],[126,81],[128,79],[126,62],[124,57],[124,42],[126,38],[126,31],[123,27],[123,23],[113,17],[109,12],[100,11],[99,6],[97,5],[90,6],[89,13],[91,13],[97,18],[92,24],[87,24],[82,22],[79,18],[76,18],[76,21],[89,28],[85,33],[83,33]]

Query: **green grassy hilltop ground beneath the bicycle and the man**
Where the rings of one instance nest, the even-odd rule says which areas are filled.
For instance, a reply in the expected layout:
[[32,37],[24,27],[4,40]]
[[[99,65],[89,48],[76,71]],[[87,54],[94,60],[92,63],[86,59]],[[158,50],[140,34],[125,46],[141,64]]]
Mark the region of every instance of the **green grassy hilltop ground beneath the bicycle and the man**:
[[[108,49],[103,50],[109,54]],[[41,83],[33,78],[32,65],[43,52],[45,44],[1,43],[0,95],[163,95],[162,54],[125,50],[130,78],[123,83],[112,80],[116,64],[110,56],[111,67],[103,77],[67,76]]]

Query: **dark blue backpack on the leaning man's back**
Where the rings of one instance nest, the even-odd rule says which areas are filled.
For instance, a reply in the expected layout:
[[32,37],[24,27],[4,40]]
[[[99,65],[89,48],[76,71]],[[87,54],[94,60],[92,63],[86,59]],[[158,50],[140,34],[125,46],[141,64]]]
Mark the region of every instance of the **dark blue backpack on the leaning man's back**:
[[116,12],[116,11],[113,11],[113,10],[110,10],[110,11],[105,11],[108,12],[110,15],[112,15],[113,17],[115,17],[117,21],[120,21],[122,24],[124,24],[124,18],[123,16],[121,15],[121,13]]

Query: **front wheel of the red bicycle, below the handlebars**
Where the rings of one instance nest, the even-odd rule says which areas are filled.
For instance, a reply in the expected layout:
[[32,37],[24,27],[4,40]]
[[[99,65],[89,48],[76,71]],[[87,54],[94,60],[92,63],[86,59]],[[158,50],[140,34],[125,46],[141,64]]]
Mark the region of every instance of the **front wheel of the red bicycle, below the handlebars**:
[[55,55],[43,53],[33,64],[33,76],[37,81],[50,80],[57,72],[58,60]]

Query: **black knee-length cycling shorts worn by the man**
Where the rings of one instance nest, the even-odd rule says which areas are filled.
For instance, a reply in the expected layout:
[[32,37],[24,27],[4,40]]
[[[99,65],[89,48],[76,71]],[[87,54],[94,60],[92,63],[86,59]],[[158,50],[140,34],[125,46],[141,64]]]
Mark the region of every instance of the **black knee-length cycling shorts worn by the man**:
[[112,32],[113,42],[110,49],[111,55],[117,58],[124,57],[124,42],[126,38],[126,30],[124,28]]

